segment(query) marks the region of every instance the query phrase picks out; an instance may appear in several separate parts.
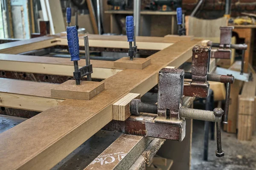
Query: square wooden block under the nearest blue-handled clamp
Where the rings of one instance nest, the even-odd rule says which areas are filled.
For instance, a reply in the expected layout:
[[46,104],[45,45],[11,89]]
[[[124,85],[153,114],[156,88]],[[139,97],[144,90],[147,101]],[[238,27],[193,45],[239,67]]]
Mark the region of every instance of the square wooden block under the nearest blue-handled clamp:
[[81,85],[76,85],[76,80],[68,80],[52,88],[51,96],[64,99],[90,100],[104,89],[104,82],[81,81]]

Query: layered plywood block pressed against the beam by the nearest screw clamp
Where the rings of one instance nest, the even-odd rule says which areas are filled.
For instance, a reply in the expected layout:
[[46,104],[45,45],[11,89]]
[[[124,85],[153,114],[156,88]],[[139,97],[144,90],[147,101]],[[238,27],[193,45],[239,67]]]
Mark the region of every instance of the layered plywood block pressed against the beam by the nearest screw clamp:
[[113,104],[113,120],[125,121],[131,116],[130,103],[132,99],[140,99],[140,94],[129,93]]

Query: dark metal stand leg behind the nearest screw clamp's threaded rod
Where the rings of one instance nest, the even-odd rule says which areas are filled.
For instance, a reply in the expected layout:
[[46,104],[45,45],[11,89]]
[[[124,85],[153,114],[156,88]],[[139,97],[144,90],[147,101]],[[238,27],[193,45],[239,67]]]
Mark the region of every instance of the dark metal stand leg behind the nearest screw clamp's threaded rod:
[[[213,111],[213,109],[214,109],[213,91],[210,89],[209,96],[206,98],[205,110]],[[207,122],[207,121],[204,122],[204,161],[208,160],[209,125],[210,125],[210,122]]]

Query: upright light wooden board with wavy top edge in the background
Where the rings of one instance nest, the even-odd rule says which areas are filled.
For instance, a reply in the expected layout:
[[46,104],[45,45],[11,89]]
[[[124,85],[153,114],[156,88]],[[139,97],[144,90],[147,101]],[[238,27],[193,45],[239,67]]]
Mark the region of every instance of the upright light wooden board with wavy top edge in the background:
[[227,18],[203,20],[186,16],[186,35],[195,37],[220,37],[220,26],[227,26]]

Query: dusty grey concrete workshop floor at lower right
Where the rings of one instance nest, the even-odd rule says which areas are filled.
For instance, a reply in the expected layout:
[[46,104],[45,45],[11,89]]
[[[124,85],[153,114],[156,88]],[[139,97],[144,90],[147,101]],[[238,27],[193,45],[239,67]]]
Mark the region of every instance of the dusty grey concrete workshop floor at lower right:
[[221,132],[225,156],[215,156],[216,140],[209,140],[208,161],[203,161],[204,122],[193,121],[191,170],[256,170],[256,135],[239,141],[236,134]]

